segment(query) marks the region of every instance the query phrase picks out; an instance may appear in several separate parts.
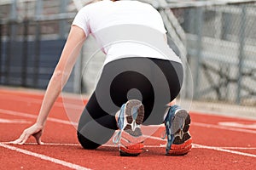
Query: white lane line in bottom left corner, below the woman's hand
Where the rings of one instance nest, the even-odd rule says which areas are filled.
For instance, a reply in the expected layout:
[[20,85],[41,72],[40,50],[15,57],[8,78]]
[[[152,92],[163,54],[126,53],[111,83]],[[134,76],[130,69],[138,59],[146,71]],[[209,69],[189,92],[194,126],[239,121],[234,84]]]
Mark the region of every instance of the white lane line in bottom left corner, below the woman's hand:
[[1,143],[0,143],[0,146],[5,148],[5,149],[15,150],[15,151],[20,152],[22,154],[25,154],[27,156],[34,156],[34,157],[37,157],[37,158],[45,160],[45,161],[51,161],[51,162],[54,162],[55,164],[59,164],[59,165],[64,166],[64,167],[69,167],[69,168],[72,168],[72,169],[79,169],[79,170],[89,169],[89,168],[81,167],[77,164],[73,164],[73,163],[70,163],[70,162],[67,162],[67,161],[61,161],[61,160],[53,158],[53,157],[44,156],[42,154],[38,154],[38,153],[29,151],[29,150],[22,150],[20,148],[15,147],[15,146],[10,146],[10,145],[1,144]]

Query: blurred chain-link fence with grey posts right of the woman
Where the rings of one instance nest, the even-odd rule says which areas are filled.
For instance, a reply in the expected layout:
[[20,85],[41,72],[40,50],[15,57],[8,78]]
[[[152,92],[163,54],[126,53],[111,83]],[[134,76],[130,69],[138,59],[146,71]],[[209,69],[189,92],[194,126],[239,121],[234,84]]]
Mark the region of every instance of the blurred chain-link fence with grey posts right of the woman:
[[256,105],[256,3],[172,11],[186,32],[194,98]]

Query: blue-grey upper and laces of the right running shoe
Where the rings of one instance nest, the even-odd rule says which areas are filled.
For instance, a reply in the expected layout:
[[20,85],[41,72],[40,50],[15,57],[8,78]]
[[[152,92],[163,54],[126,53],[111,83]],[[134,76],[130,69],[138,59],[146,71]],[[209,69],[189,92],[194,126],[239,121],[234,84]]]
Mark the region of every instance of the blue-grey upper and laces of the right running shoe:
[[174,133],[172,132],[172,121],[174,119],[175,116],[175,112],[177,111],[177,109],[179,109],[180,107],[178,105],[173,105],[169,108],[168,114],[165,118],[165,126],[166,126],[166,132],[163,132],[162,134],[162,139],[166,139],[167,137],[167,144],[166,144],[166,154],[169,153],[169,151],[171,150],[171,146],[172,143],[174,141]]

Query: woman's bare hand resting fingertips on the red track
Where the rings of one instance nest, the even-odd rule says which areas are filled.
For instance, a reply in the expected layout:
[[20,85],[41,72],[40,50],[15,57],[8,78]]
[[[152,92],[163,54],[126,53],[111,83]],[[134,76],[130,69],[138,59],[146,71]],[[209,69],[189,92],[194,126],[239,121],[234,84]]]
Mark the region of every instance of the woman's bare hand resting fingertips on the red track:
[[29,137],[33,136],[38,144],[44,144],[41,141],[41,136],[43,133],[43,126],[39,126],[37,123],[33,124],[31,127],[26,128],[20,135],[19,139],[9,142],[9,144],[24,144]]

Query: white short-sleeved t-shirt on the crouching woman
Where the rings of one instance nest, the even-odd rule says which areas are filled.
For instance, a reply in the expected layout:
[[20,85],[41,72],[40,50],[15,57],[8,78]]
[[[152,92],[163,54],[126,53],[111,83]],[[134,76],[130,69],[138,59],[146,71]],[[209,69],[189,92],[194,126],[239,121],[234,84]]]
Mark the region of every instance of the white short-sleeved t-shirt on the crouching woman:
[[79,10],[73,25],[82,28],[86,36],[92,34],[96,38],[107,54],[105,64],[129,56],[180,62],[171,48],[163,52],[166,29],[158,11],[148,3],[110,0],[90,3]]

